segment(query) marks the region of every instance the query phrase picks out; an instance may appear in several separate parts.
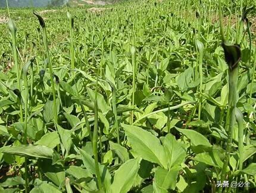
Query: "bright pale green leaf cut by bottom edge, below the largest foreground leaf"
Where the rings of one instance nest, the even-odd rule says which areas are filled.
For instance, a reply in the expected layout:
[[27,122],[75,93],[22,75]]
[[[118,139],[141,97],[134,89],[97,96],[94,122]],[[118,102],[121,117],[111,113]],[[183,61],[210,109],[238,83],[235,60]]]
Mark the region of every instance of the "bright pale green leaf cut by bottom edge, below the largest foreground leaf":
[[128,160],[115,171],[114,181],[110,186],[111,192],[126,193],[132,188],[140,162],[141,158]]

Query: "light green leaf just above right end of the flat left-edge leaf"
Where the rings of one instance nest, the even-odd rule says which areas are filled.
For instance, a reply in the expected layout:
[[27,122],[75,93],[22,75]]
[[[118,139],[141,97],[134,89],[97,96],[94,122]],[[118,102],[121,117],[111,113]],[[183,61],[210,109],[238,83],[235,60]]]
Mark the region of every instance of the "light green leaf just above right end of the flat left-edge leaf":
[[48,132],[47,134],[43,135],[42,138],[40,138],[39,141],[36,141],[35,144],[38,145],[45,145],[49,148],[54,148],[58,144],[60,144],[60,138],[57,131],[54,132]]

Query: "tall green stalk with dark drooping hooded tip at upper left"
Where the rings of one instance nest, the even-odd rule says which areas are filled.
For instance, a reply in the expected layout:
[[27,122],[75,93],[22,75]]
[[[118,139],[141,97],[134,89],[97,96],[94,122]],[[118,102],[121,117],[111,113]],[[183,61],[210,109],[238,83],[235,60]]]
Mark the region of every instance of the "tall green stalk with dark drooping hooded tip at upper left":
[[49,48],[48,48],[48,43],[47,43],[45,21],[43,21],[43,18],[39,14],[37,14],[35,11],[34,11],[34,14],[36,15],[36,17],[38,17],[40,26],[42,27],[42,30],[43,30],[43,45],[45,47],[46,56],[47,56],[48,62],[49,62],[49,72],[50,72],[50,77],[51,77],[52,96],[54,98],[54,122],[55,122],[55,124],[57,124],[58,123],[58,112],[57,112],[57,103],[56,103],[55,87],[54,87],[54,73],[53,73],[53,69],[52,69],[52,59],[51,59],[51,56],[49,53]]

